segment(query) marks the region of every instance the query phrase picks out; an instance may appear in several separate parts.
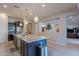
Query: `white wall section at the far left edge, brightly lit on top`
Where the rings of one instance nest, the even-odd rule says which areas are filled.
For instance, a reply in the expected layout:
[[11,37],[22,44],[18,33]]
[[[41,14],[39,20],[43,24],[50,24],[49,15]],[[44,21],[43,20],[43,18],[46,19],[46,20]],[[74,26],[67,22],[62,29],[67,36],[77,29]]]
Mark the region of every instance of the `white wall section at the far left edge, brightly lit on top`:
[[8,40],[8,17],[0,14],[0,43]]

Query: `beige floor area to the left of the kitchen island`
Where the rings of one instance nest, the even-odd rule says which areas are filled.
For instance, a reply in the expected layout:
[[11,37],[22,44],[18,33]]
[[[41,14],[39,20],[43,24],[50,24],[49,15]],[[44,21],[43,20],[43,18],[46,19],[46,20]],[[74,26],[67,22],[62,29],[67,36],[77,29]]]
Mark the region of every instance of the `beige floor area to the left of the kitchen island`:
[[13,42],[0,43],[0,56],[19,56]]

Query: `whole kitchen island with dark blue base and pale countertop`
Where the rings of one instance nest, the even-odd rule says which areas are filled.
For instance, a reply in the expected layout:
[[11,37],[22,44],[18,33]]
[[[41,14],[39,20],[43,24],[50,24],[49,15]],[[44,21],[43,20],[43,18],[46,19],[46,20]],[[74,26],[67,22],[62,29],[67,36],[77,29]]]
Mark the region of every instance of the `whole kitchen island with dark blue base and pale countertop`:
[[47,40],[36,35],[14,35],[14,45],[22,56],[47,56]]

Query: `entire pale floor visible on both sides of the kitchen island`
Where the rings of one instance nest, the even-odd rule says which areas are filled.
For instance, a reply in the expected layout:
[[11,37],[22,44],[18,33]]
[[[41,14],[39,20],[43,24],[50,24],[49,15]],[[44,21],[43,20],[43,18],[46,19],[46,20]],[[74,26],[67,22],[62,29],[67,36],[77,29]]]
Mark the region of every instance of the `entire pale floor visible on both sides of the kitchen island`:
[[[0,56],[20,56],[12,41],[0,43]],[[79,44],[58,45],[48,42],[48,56],[79,56]]]

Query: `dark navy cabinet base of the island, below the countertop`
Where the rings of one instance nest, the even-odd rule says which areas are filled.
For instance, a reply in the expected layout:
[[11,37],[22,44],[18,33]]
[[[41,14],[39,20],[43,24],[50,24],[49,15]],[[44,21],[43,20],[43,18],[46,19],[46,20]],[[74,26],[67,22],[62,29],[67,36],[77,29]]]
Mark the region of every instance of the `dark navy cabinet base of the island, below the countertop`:
[[27,42],[15,37],[14,44],[22,56],[47,56],[48,54],[47,39],[44,38]]

